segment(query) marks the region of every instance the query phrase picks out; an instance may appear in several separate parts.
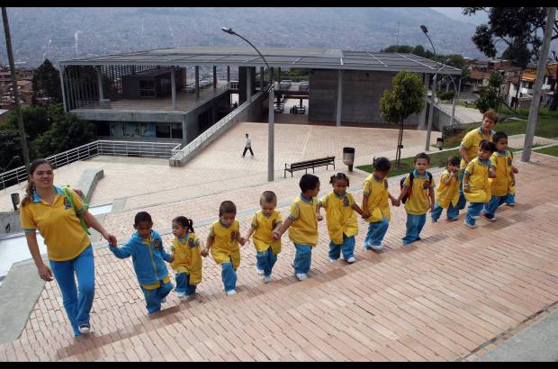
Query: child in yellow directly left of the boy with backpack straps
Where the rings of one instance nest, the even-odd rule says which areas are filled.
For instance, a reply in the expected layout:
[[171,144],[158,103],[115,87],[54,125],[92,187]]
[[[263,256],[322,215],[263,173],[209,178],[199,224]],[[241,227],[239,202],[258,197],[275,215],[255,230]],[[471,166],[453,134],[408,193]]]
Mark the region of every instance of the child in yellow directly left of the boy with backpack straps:
[[387,157],[374,157],[374,174],[368,175],[363,188],[363,218],[368,221],[363,251],[383,250],[382,240],[390,225],[390,204],[400,206],[400,202],[388,191],[387,176],[392,163]]

